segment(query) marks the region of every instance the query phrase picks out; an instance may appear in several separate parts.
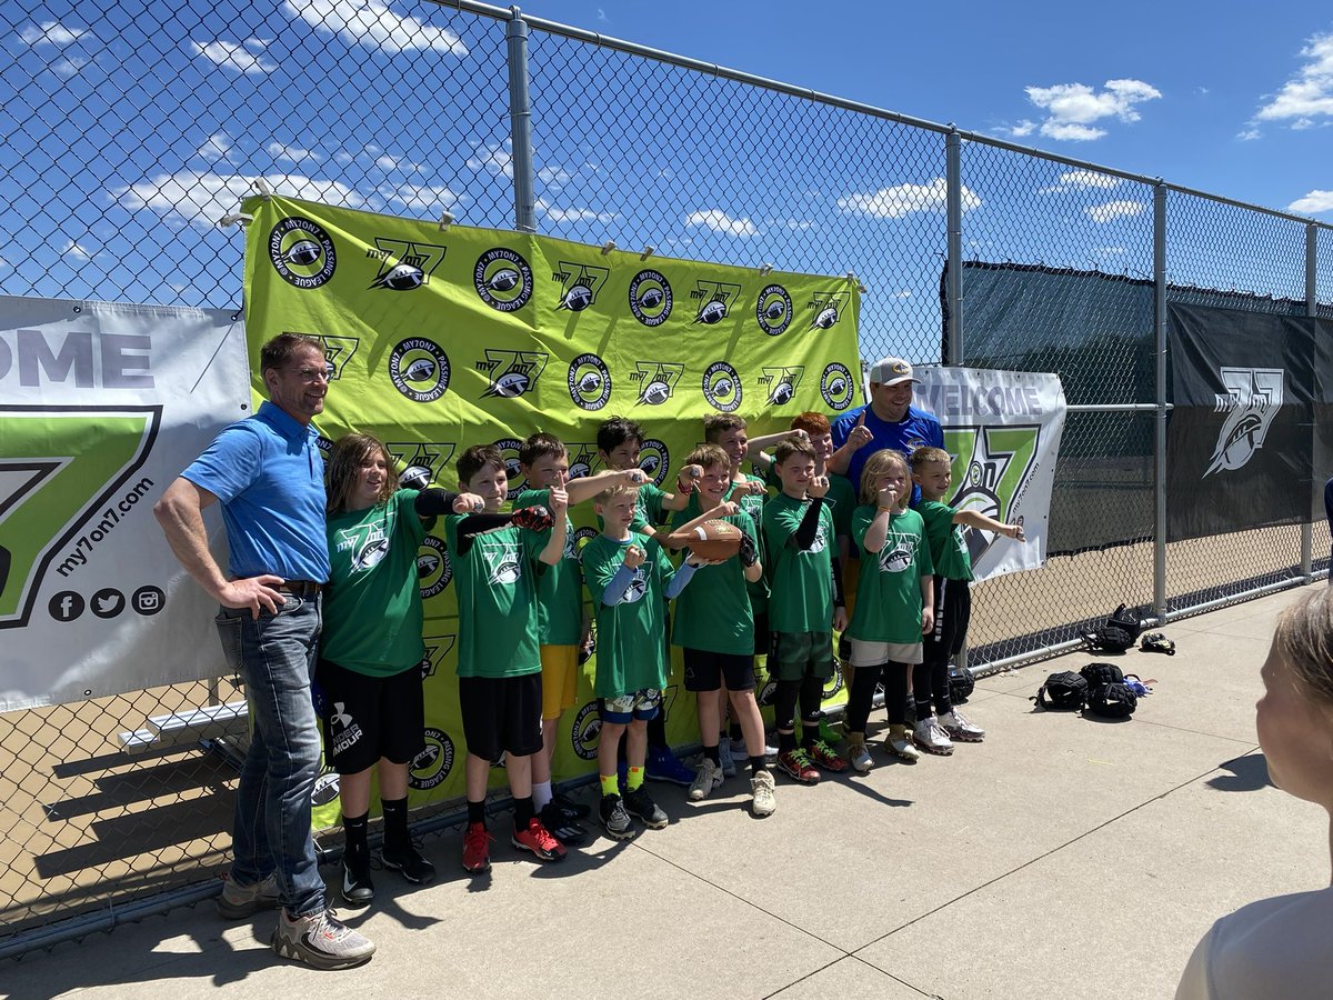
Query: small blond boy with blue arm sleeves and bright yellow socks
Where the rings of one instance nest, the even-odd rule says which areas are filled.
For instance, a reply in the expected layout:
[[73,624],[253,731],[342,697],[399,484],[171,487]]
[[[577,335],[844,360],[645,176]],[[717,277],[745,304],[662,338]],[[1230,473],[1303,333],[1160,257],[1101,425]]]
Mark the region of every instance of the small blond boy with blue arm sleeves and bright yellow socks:
[[[649,829],[666,825],[644,787],[648,720],[666,685],[666,600],[689,583],[701,564],[693,556],[674,569],[656,539],[632,531],[636,489],[615,485],[597,499],[603,532],[583,549],[584,580],[597,609],[597,672],[601,699],[597,772],[601,780],[601,825],[608,836],[633,836],[629,813]],[[625,795],[620,795],[617,761],[625,737]]]

